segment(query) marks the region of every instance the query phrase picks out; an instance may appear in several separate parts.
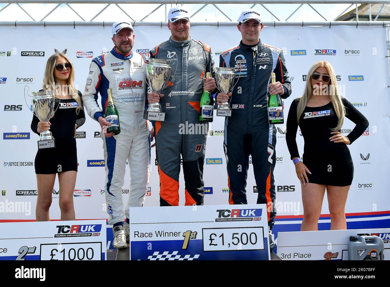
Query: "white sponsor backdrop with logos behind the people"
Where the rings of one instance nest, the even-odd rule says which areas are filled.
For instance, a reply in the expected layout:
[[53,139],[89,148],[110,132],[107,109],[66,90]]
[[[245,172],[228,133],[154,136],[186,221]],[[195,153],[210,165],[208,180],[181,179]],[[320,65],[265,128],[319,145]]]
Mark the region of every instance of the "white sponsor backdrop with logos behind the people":
[[[0,131],[1,186],[0,220],[34,220],[37,184],[34,174],[34,158],[37,152],[38,135],[30,130],[32,113],[30,99],[27,105],[23,98],[25,85],[32,91],[42,88],[46,61],[57,49],[74,64],[75,84],[84,91],[93,57],[110,51],[113,43],[111,29],[102,27],[2,27],[4,39],[0,49],[0,103],[3,124]],[[136,27],[134,52],[148,53],[149,49],[168,39],[167,27]],[[237,45],[241,34],[236,27],[193,27],[191,36],[211,46],[215,61],[230,47]],[[326,41],[318,41],[326,39]],[[22,40],[23,39],[23,40]],[[342,95],[346,96],[370,122],[369,128],[355,143],[349,146],[355,175],[346,204],[346,212],[358,214],[363,221],[372,220],[376,227],[390,218],[390,194],[388,175],[390,166],[390,127],[388,61],[386,56],[386,35],[382,27],[265,27],[261,32],[263,43],[283,49],[287,69],[291,78],[292,95],[284,100],[285,121],[291,102],[299,97],[310,66],[316,61],[329,61],[336,72],[337,83]],[[366,39],[366,41],[361,41]],[[178,77],[179,75],[176,75]],[[246,103],[242,107],[246,109]],[[206,205],[226,204],[227,186],[226,160],[223,153],[223,120],[214,116],[209,125],[207,152],[204,165]],[[342,133],[348,134],[354,124],[348,119]],[[299,223],[303,214],[301,188],[285,142],[285,125],[277,126],[277,164],[275,185],[277,190],[276,209],[280,226],[287,220]],[[105,168],[99,124],[87,116],[85,124],[78,129],[78,177],[74,191],[74,206],[77,219],[106,219]],[[296,140],[303,153],[303,137],[297,131]],[[66,153],[66,151],[63,151]],[[318,150],[321,153],[321,150]],[[48,159],[50,160],[50,159]],[[129,168],[123,186],[123,198],[129,194]],[[255,203],[257,188],[250,165],[247,182],[248,203]],[[58,180],[53,189],[51,219],[60,218]],[[24,202],[25,205],[17,205]],[[145,206],[158,206],[159,178],[155,162],[155,149],[151,149],[151,173]],[[180,179],[180,204],[184,204],[184,180]],[[29,212],[19,207],[25,206]],[[19,208],[19,209],[18,209]],[[328,202],[324,198],[322,214],[328,214]],[[353,216],[352,216],[353,217]],[[371,219],[369,219],[371,218]],[[329,222],[327,218],[327,221]],[[353,220],[353,219],[351,219]],[[281,224],[283,223],[283,224]],[[367,222],[365,223],[367,224]],[[278,230],[275,226],[275,230]],[[369,226],[367,226],[369,227]],[[367,228],[366,227],[366,228]],[[294,228],[297,230],[299,227]],[[329,228],[327,225],[324,228]],[[361,228],[355,226],[355,228]],[[283,231],[289,227],[282,228]],[[282,231],[279,229],[279,231]]]

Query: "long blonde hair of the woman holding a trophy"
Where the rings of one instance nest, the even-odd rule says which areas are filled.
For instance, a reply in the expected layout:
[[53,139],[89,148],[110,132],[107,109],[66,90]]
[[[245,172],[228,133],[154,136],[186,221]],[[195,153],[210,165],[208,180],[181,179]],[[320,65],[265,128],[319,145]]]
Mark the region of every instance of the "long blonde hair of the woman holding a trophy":
[[56,83],[54,80],[54,66],[55,66],[55,62],[57,61],[57,58],[60,58],[60,57],[65,58],[65,60],[67,62],[71,63],[71,65],[72,65],[72,68],[69,72],[69,77],[66,80],[66,84],[67,84],[66,88],[68,90],[67,91],[68,94],[70,96],[72,96],[72,98],[78,103],[78,107],[76,108],[76,114],[78,114],[80,112],[80,109],[82,109],[82,106],[81,106],[80,96],[76,92],[76,89],[74,88],[74,84],[73,84],[74,66],[73,66],[72,62],[68,59],[68,57],[66,57],[65,54],[55,53],[49,57],[49,59],[46,63],[46,69],[45,69],[45,74],[44,74],[44,78],[43,78],[43,89],[45,91],[51,90],[51,91],[53,91],[53,93],[58,94],[58,91],[56,88]]

